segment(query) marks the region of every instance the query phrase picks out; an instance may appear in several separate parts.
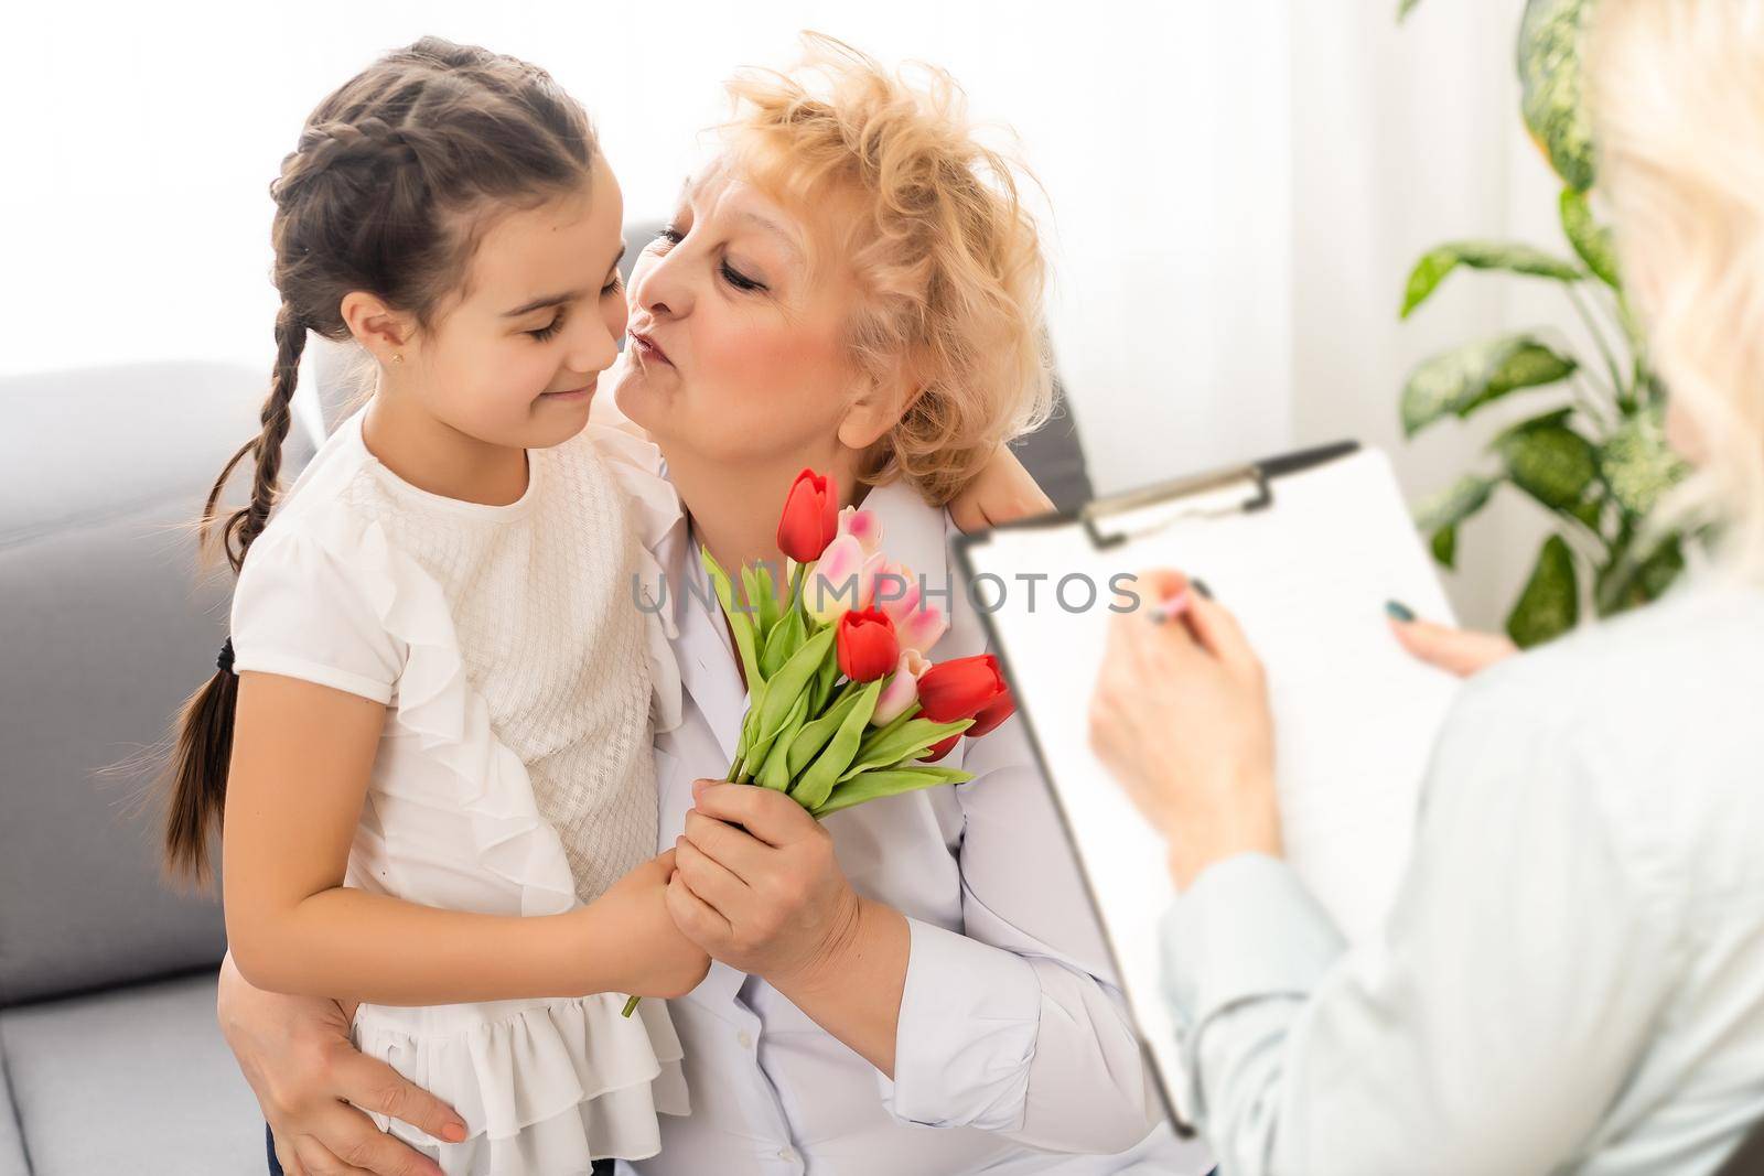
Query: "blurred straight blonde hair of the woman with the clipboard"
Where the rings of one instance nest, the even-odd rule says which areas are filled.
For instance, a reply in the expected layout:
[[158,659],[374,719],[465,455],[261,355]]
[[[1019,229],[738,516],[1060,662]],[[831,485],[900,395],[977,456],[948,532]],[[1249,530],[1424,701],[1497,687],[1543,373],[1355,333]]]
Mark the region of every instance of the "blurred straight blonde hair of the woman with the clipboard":
[[1625,280],[1697,473],[1667,525],[1720,520],[1764,578],[1764,2],[1602,0],[1588,86]]

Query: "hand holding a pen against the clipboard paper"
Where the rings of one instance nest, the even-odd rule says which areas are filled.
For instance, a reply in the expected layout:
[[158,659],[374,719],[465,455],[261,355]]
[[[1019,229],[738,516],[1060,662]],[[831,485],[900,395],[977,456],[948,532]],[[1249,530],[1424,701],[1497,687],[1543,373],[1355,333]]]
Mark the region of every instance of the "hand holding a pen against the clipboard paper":
[[[1281,852],[1274,719],[1237,619],[1175,571],[1140,577],[1141,605],[1110,621],[1090,746],[1170,841],[1187,887],[1214,860]],[[1180,610],[1152,621],[1159,601]]]

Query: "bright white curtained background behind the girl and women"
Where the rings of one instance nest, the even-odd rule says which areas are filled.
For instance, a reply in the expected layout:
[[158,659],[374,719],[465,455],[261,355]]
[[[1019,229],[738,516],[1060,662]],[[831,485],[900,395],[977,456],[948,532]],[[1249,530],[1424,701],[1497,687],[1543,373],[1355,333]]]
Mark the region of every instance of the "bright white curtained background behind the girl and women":
[[[1461,277],[1397,326],[1415,252],[1551,206],[1510,183],[1528,150],[1517,2],[1429,0],[1404,30],[1394,7],[11,5],[0,372],[266,370],[266,185],[312,104],[386,48],[434,32],[550,69],[594,115],[635,219],[667,212],[725,111],[718,81],[789,63],[813,26],[949,67],[981,118],[1020,134],[1048,194],[1053,340],[1101,490],[1295,441],[1392,443],[1408,365],[1510,314],[1506,284]],[[1418,492],[1468,443],[1397,451]],[[1455,591],[1476,621],[1506,592],[1478,547],[1498,529],[1466,534],[1478,577]]]

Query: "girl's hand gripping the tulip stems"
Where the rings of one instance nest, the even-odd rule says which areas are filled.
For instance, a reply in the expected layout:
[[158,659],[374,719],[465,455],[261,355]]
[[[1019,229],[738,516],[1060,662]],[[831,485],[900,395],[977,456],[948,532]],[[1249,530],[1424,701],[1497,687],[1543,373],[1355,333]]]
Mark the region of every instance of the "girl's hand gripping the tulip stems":
[[617,991],[630,996],[684,996],[711,970],[711,957],[679,933],[667,890],[674,850],[653,857],[584,908],[593,926],[589,950],[619,954]]

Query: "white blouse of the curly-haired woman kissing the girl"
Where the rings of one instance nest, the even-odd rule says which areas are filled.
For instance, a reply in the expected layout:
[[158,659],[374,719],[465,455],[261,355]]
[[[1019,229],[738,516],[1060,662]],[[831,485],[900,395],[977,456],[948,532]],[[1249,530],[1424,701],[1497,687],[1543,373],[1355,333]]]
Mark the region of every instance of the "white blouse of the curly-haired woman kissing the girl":
[[[984,628],[949,564],[947,513],[901,483],[871,490],[863,506],[880,520],[889,559],[953,610],[931,659],[984,652]],[[686,520],[658,555],[686,689],[681,725],[656,744],[660,848],[670,848],[691,781],[727,770],[748,696]],[[669,1001],[693,1113],[663,1120],[660,1155],[635,1165],[644,1176],[1210,1167],[1161,1121],[1023,723],[961,741],[944,763],[977,779],[827,818],[852,887],[900,910],[912,936],[893,1081],[764,980],[713,963],[697,989]]]

